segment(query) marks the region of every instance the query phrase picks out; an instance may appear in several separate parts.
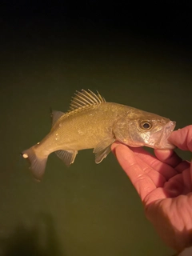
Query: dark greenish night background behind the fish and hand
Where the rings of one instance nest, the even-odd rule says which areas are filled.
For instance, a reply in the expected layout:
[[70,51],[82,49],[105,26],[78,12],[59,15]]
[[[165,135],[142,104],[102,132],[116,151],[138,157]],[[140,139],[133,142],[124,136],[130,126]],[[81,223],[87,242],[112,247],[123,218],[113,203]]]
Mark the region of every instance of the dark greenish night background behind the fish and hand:
[[[0,255],[171,255],[113,154],[42,182],[19,155],[50,131],[75,90],[192,124],[190,1],[0,3]],[[177,150],[190,160],[189,152]]]

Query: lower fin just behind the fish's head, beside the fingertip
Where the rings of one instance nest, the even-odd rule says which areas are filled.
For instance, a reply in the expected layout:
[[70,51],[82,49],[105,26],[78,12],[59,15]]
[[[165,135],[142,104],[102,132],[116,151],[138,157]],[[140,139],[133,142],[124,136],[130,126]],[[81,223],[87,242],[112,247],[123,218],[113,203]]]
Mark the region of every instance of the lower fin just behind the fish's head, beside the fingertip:
[[115,141],[114,138],[108,138],[102,142],[99,142],[97,146],[94,148],[95,154],[95,162],[102,162],[104,158],[106,158],[107,154],[110,153],[110,146]]

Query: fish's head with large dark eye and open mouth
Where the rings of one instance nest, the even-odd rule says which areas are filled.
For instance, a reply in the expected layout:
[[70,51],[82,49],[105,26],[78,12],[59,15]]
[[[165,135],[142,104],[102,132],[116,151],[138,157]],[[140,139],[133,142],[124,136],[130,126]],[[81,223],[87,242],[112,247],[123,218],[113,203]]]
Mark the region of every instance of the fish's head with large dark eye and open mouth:
[[118,120],[114,132],[117,140],[128,146],[149,146],[154,149],[174,149],[168,141],[176,125],[168,118],[141,111]]

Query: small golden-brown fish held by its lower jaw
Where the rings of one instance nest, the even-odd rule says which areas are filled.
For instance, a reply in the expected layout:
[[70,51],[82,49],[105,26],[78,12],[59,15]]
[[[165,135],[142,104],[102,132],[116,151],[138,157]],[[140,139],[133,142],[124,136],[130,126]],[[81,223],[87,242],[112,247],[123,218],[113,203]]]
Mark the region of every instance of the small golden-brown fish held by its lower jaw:
[[34,178],[39,181],[47,158],[53,152],[70,166],[78,150],[94,149],[95,162],[102,162],[115,141],[132,147],[174,148],[168,137],[176,122],[132,106],[106,102],[98,91],[77,90],[70,109],[66,113],[54,110],[51,116],[50,133],[22,152],[22,157],[30,162]]

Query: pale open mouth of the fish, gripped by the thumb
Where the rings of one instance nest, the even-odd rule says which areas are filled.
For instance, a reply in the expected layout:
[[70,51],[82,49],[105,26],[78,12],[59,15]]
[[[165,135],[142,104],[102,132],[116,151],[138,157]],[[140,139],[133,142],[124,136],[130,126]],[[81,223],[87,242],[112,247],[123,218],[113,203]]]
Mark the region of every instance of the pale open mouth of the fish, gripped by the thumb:
[[[172,131],[174,130],[175,126],[176,122],[167,122],[166,125],[162,128],[162,130],[160,130],[157,134],[152,135],[153,141],[155,141],[155,138],[157,139],[157,141],[154,143],[155,149],[172,150],[175,148],[175,146],[168,141],[168,138]],[[159,133],[161,133],[160,136]]]

